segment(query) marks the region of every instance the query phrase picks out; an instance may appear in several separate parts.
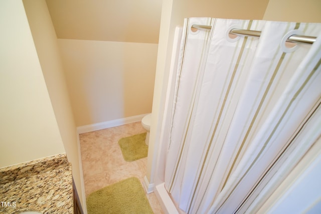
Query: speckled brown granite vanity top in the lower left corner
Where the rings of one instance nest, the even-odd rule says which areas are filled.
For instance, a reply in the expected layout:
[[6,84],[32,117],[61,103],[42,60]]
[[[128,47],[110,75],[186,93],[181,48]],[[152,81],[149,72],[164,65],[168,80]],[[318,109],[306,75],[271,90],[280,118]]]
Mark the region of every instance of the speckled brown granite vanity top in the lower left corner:
[[0,213],[73,213],[66,154],[0,168]]

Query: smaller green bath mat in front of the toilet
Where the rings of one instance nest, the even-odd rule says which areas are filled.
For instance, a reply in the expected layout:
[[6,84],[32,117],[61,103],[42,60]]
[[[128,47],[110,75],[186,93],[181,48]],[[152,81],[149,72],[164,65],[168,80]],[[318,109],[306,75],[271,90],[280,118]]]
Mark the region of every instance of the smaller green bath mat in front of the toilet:
[[146,132],[130,137],[121,138],[118,141],[122,156],[126,161],[134,161],[147,157],[148,146],[145,144]]

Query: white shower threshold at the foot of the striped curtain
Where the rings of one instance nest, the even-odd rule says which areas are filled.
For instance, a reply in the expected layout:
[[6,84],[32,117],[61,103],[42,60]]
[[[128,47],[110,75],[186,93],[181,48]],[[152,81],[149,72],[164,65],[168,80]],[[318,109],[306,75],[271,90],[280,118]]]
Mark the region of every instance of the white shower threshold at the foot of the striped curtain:
[[155,186],[155,195],[165,214],[179,214],[179,211],[173,203],[169,193],[165,189],[164,183]]

